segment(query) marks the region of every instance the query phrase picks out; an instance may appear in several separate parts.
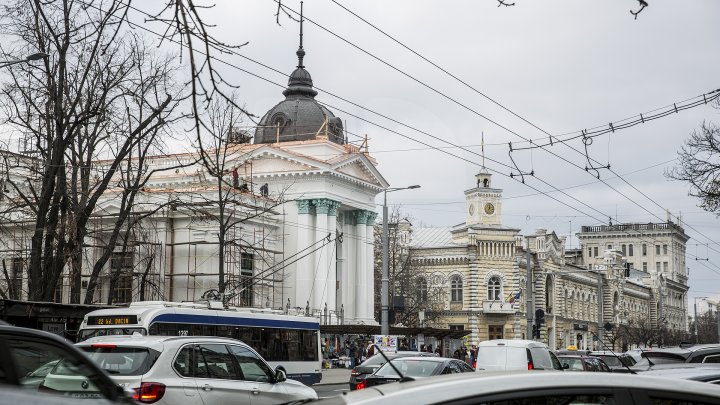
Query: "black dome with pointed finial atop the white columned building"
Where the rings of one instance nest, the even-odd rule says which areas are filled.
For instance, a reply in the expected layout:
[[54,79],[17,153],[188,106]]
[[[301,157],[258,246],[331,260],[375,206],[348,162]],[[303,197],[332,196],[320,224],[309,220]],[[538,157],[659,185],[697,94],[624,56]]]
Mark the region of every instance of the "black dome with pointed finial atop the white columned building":
[[[303,66],[305,51],[297,51],[298,66],[290,74],[288,87],[281,101],[260,120],[255,130],[254,143],[307,141],[327,135],[328,140],[344,144],[340,118],[315,101],[318,94],[312,87],[312,77]],[[317,136],[316,136],[317,135]]]

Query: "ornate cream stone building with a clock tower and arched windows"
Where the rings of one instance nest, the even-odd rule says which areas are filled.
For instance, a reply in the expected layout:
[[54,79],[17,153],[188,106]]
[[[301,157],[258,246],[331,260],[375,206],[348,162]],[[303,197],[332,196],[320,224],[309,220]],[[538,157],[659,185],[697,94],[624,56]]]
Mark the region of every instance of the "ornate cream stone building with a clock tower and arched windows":
[[[415,291],[442,287],[435,298],[443,309],[431,326],[470,330],[468,343],[476,344],[531,338],[532,323],[542,315],[540,340],[552,348],[582,349],[619,345],[613,329],[632,319],[684,330],[680,320],[687,285],[682,275],[673,280],[629,269],[631,261],[611,242],[592,263],[584,263],[581,255],[565,252],[565,238],[554,232],[539,229],[523,236],[502,226],[502,190],[492,187],[485,170],[465,197],[464,223],[407,232]],[[686,240],[674,239],[678,252],[684,252]]]

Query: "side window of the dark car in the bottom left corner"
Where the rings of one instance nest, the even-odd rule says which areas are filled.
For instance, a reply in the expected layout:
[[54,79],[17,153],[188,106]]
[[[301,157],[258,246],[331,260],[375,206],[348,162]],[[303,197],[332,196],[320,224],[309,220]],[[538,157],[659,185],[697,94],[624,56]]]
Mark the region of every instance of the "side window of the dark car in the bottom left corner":
[[21,386],[73,398],[103,398],[98,371],[82,355],[35,340],[7,339]]

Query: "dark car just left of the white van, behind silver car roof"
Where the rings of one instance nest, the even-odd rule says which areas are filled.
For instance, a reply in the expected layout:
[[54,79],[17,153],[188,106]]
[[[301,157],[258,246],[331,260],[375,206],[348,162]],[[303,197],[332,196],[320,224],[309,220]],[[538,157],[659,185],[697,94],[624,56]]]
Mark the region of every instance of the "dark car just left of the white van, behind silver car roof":
[[414,380],[434,375],[474,372],[475,369],[464,361],[448,357],[397,357],[383,364],[375,373],[365,378],[364,384],[358,385],[357,389],[404,379]]

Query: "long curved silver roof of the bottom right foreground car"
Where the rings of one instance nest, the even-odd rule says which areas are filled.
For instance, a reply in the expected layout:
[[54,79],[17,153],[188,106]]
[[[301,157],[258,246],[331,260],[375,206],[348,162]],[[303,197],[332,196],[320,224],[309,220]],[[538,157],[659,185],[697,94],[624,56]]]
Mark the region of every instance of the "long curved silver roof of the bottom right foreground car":
[[[562,373],[558,375],[558,373]],[[477,395],[493,395],[520,390],[576,389],[576,388],[625,388],[654,391],[671,391],[687,395],[720,397],[720,386],[695,381],[683,384],[668,384],[667,378],[633,376],[615,373],[568,373],[549,371],[546,373],[462,373],[450,374],[385,384],[353,391],[339,397],[331,397],[320,403],[348,404],[399,404],[444,403],[451,399],[472,398]]]

